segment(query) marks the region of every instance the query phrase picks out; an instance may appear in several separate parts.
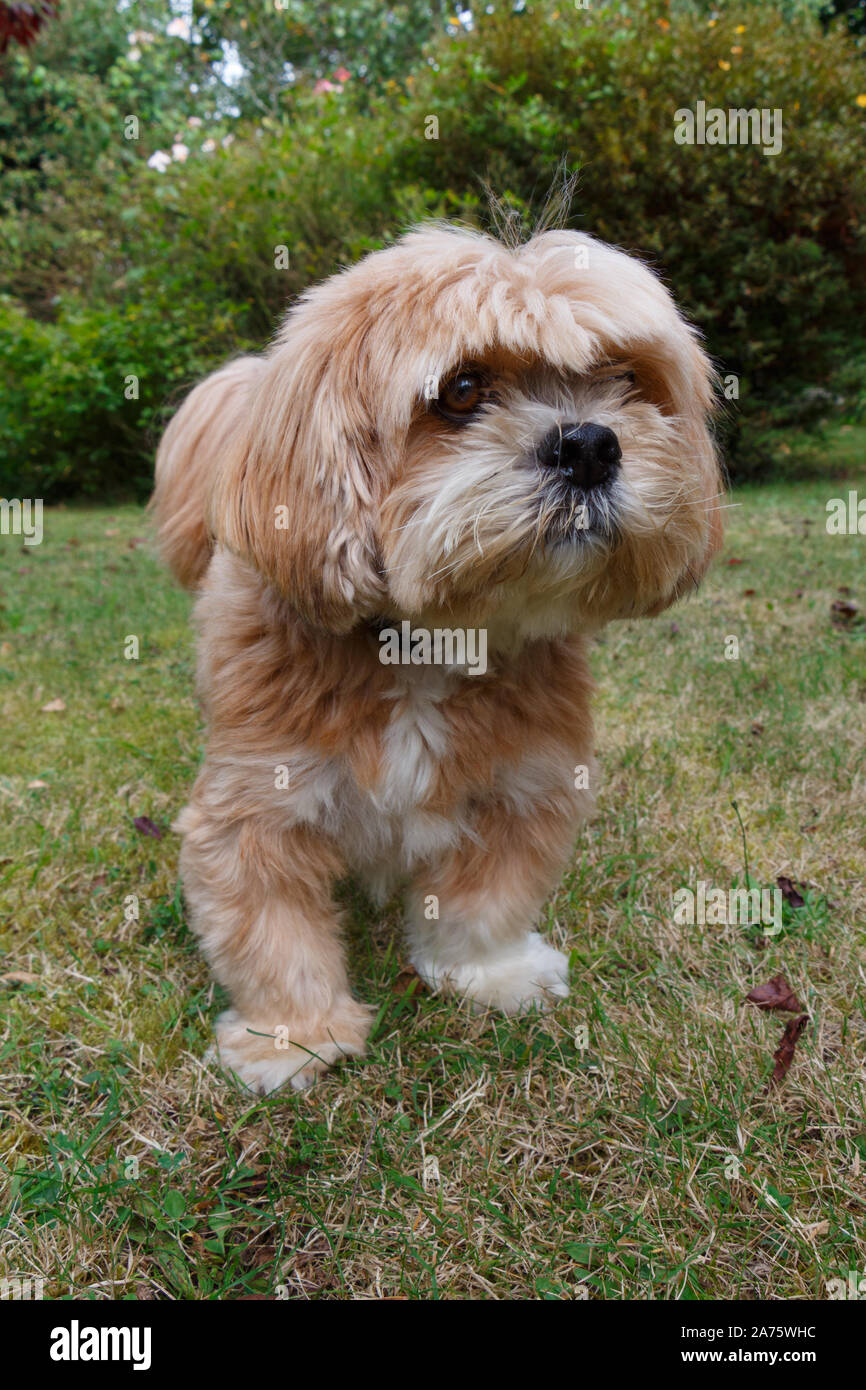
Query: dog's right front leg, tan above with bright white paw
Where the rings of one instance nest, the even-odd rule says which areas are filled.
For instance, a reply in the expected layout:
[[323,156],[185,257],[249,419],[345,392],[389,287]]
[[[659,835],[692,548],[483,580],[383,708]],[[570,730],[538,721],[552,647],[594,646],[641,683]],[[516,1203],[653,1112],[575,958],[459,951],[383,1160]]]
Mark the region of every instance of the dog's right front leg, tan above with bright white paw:
[[531,930],[567,859],[575,806],[514,816],[489,805],[468,837],[414,877],[411,963],[432,988],[477,1009],[520,1013],[569,992],[569,962]]

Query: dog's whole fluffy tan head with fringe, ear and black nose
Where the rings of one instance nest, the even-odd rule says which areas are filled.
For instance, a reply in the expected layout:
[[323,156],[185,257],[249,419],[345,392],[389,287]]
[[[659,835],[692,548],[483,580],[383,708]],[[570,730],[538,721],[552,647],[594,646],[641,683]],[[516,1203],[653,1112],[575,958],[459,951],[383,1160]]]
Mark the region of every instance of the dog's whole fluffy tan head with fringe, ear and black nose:
[[574,232],[509,250],[425,228],[289,313],[211,524],[332,631],[649,614],[720,542],[710,406],[639,261]]

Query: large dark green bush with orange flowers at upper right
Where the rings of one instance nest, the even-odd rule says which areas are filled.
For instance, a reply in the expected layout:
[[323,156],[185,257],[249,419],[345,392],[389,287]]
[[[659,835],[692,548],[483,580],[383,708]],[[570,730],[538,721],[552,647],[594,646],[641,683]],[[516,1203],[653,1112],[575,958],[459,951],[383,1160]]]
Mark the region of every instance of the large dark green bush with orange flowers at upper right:
[[[409,145],[405,172],[464,189],[484,152],[495,188],[528,202],[567,154],[581,170],[577,224],[663,271],[758,420],[866,336],[866,75],[845,31],[824,35],[808,11],[669,15],[630,4],[480,17],[418,81],[416,121],[435,111],[439,140]],[[674,113],[698,99],[781,108],[783,153],[674,143]],[[748,436],[741,471],[746,459]]]

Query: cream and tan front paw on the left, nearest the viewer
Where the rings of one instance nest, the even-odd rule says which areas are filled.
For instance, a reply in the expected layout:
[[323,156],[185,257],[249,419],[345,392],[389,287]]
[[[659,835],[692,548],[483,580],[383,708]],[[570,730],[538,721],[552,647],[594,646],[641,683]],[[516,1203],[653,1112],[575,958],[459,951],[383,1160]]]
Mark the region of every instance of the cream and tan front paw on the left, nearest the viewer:
[[236,1009],[222,1013],[215,1027],[224,1069],[259,1095],[286,1081],[296,1091],[306,1090],[335,1062],[361,1056],[368,1030],[370,1011],[354,999],[335,1009],[327,1024],[313,1030],[310,1037],[303,1036],[303,1029],[272,1019],[242,1017]]

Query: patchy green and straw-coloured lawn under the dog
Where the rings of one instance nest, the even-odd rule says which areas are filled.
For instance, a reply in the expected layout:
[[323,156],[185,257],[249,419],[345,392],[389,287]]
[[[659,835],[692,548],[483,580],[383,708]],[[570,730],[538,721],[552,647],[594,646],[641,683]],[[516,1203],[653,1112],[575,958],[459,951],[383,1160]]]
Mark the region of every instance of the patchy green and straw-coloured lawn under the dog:
[[[209,1058],[220,991],[177,885],[189,600],[138,509],[0,538],[0,1273],[50,1298],[751,1300],[862,1270],[866,626],[831,603],[863,600],[866,542],[824,531],[851,485],[740,492],[701,595],[599,644],[598,815],[544,924],[569,1002],[414,992],[399,903],[343,885],[370,1055],[265,1099]],[[746,855],[805,885],[777,937],[674,923],[677,888],[744,883]],[[785,1019],[744,998],[780,970],[812,1024],[769,1090]]]

